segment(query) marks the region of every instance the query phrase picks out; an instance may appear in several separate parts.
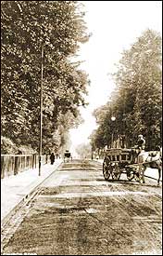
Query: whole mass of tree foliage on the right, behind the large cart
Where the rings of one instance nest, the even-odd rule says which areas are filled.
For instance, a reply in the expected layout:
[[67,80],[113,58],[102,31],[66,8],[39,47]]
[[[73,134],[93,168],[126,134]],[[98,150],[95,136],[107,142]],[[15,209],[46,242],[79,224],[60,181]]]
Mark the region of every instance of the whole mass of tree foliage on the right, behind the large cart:
[[[146,139],[146,149],[161,145],[162,80],[161,36],[146,30],[122,53],[118,72],[113,74],[116,89],[103,108],[94,112],[99,128],[94,134],[98,147],[109,145],[125,135],[127,146],[136,143],[138,134]],[[111,115],[116,121],[111,122]]]

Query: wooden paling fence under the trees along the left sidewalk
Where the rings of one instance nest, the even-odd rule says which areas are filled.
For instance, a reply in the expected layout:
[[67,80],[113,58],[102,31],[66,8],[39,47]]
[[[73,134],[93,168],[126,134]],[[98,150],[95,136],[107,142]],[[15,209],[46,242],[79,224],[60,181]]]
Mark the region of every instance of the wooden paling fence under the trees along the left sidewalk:
[[[49,155],[42,155],[42,164],[47,164]],[[37,168],[39,155],[1,155],[1,179],[19,172]]]

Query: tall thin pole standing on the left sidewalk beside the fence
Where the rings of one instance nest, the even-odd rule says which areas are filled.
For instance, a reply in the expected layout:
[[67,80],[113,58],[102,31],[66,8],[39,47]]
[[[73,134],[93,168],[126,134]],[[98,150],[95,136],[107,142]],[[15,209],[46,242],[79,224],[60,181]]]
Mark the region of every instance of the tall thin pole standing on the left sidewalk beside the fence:
[[43,63],[44,62],[44,45],[42,44],[42,68],[41,68],[41,89],[40,89],[40,143],[39,143],[39,176],[42,168],[42,135],[43,135]]

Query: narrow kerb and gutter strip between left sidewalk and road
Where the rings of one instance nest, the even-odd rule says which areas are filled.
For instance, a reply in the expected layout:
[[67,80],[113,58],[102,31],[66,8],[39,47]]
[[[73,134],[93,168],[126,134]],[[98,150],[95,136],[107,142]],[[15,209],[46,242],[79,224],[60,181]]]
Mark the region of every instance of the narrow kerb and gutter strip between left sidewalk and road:
[[54,167],[54,169],[45,177],[43,177],[43,179],[40,179],[39,181],[34,181],[32,182],[29,186],[27,186],[21,193],[22,194],[22,198],[19,199],[19,202],[17,204],[15,204],[15,206],[13,206],[12,209],[9,210],[9,212],[6,214],[6,216],[1,220],[1,228],[6,225],[6,222],[9,221],[9,219],[12,217],[12,215],[15,214],[15,212],[20,208],[20,206],[28,200],[28,198],[32,195],[32,193],[34,192],[34,190],[41,185],[46,179],[48,179],[50,177],[50,175],[52,175],[52,173],[54,173],[54,171],[56,171],[57,168],[59,168],[59,166],[63,163],[63,161],[58,162],[57,165]]

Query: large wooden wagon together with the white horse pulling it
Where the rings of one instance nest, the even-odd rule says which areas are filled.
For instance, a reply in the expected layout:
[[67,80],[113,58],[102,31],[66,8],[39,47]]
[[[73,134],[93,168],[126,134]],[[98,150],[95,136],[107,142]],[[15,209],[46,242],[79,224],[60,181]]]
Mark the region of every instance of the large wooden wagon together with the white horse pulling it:
[[[153,157],[152,154],[154,154],[155,157]],[[126,173],[129,181],[135,179],[136,181],[140,182],[143,180],[144,182],[144,170],[154,163],[156,164],[154,168],[158,168],[159,184],[161,159],[157,152],[151,152],[151,155],[149,152],[144,152],[144,154],[138,155],[136,162],[132,163],[132,149],[110,148],[107,149],[104,158],[103,175],[106,181],[118,181],[121,173]]]

